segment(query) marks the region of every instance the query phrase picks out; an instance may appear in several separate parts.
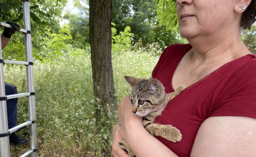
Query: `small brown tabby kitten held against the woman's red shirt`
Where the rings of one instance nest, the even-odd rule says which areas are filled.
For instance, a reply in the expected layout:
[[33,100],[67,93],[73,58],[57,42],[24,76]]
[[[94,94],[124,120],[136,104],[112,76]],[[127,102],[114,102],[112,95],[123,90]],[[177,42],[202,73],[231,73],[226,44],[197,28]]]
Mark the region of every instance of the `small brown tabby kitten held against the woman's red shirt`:
[[[165,87],[157,79],[137,79],[125,76],[125,80],[132,86],[130,99],[132,111],[135,115],[143,117],[144,128],[153,136],[160,136],[171,142],[181,141],[181,132],[171,125],[153,123],[155,118],[161,115],[167,103],[176,97],[185,86],[180,86],[176,91],[166,94]],[[128,144],[121,139],[119,146],[129,157],[135,157]]]

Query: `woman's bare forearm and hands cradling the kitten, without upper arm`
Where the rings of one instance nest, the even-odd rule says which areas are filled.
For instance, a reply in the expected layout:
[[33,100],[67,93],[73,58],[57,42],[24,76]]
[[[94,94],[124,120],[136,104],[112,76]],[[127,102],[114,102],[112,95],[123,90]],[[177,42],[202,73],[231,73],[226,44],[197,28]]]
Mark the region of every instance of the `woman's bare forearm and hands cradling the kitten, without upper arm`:
[[115,126],[113,131],[114,157],[126,157],[125,152],[117,147],[119,137],[129,144],[136,157],[177,157],[175,153],[144,129],[141,117],[132,113],[129,96],[123,98],[118,111],[121,127]]

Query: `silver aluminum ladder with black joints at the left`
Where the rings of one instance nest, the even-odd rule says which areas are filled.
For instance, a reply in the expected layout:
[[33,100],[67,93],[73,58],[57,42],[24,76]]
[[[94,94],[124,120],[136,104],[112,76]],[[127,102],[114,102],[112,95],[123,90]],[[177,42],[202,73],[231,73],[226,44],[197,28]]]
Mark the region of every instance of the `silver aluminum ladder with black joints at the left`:
[[[23,61],[13,61],[4,60],[2,58],[2,46],[0,39],[0,157],[10,157],[10,145],[9,145],[9,135],[16,131],[29,126],[30,135],[30,150],[21,155],[20,157],[36,157],[38,142],[37,142],[37,117],[35,108],[35,88],[34,88],[34,78],[33,78],[33,58],[32,58],[32,43],[31,43],[31,29],[30,29],[30,15],[29,15],[29,0],[23,0],[23,16],[24,16],[24,29],[20,32],[25,35],[25,50],[26,50],[26,62]],[[1,27],[9,27],[11,25],[0,22]],[[5,95],[4,87],[4,64],[23,64],[26,66],[27,72],[27,93],[19,93],[14,95]],[[28,97],[28,111],[29,111],[29,121],[24,122],[14,128],[8,130],[7,122],[7,107],[6,100],[18,98],[18,97]]]

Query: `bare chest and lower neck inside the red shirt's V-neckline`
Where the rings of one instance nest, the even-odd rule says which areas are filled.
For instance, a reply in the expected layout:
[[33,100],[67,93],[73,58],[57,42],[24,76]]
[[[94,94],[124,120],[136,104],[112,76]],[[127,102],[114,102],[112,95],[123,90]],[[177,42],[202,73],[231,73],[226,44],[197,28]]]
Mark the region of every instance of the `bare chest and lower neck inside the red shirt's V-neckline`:
[[[200,46],[203,47],[200,49]],[[236,44],[224,41],[217,46],[192,44],[192,49],[182,58],[174,72],[172,86],[174,89],[181,85],[190,86],[224,64],[247,54],[250,54],[250,51],[242,41]]]

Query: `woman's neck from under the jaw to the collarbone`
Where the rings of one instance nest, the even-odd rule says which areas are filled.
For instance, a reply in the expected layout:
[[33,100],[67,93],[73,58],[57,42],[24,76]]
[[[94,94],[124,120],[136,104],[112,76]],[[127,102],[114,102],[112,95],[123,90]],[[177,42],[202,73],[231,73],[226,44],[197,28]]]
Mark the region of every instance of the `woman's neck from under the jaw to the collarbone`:
[[[191,61],[213,64],[215,62],[230,62],[236,58],[251,53],[243,44],[240,35],[227,38],[200,37],[188,39],[193,49],[189,52]],[[228,40],[230,39],[230,40]]]

